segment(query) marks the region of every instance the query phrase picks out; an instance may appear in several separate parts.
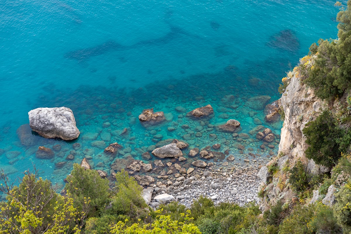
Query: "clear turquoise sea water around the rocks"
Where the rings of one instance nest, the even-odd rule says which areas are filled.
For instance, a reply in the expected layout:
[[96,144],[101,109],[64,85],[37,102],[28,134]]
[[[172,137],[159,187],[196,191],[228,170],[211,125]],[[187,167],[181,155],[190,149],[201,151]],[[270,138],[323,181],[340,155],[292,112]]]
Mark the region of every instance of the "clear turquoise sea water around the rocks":
[[[264,110],[245,103],[260,95],[271,96],[267,104],[277,100],[289,62],[296,65],[319,38],[336,37],[334,3],[0,0],[0,167],[16,178],[34,164],[43,177],[62,184],[72,162],[91,149],[94,168],[111,173],[115,158],[91,146],[93,140],[84,135],[92,133],[106,146],[120,143],[124,151],[117,158],[140,159],[148,147],[168,138],[186,139],[190,148],[221,143],[219,151],[238,158],[247,156],[248,148],[269,154],[254,135],[238,140],[211,125],[237,119],[241,133],[249,133],[258,118],[279,135],[281,122],[266,123]],[[175,110],[207,104],[215,116],[203,122]],[[22,125],[28,129],[28,111],[60,106],[73,111],[81,131],[77,140],[47,140],[29,131],[20,141],[16,131]],[[138,115],[151,107],[164,111],[168,121],[141,126]],[[128,134],[119,135],[124,128]],[[58,169],[55,163],[67,161],[73,143],[81,145],[75,159]],[[53,159],[35,158],[38,146],[54,145],[61,150]]]

